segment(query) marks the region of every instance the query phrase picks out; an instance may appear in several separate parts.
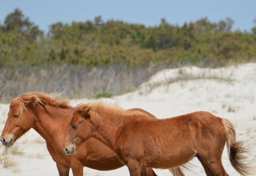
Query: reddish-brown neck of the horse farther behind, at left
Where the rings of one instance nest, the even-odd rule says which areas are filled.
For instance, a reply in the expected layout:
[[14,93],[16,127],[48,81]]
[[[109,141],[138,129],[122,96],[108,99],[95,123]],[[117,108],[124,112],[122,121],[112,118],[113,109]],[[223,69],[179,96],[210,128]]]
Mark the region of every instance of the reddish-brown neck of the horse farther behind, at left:
[[36,119],[33,128],[45,139],[46,142],[58,142],[58,138],[61,138],[61,136],[58,135],[59,131],[61,130],[60,127],[63,127],[64,124],[68,126],[68,110],[54,108],[47,109],[49,110],[49,112],[46,112],[42,108],[37,110],[37,115],[35,116]]

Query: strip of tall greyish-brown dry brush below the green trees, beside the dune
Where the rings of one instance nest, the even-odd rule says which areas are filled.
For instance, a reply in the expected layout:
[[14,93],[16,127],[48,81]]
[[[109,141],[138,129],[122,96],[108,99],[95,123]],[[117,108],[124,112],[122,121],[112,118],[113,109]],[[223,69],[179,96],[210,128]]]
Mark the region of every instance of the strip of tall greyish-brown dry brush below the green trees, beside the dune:
[[90,69],[71,65],[2,68],[0,102],[10,102],[12,98],[27,91],[64,91],[62,95],[68,98],[92,98],[102,92],[120,95],[136,89],[163,68],[130,68],[116,65]]

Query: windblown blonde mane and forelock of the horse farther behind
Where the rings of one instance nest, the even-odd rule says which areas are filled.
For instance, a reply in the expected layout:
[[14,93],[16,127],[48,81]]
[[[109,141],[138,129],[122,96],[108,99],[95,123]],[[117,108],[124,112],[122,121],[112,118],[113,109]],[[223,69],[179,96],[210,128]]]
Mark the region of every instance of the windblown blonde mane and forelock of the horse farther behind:
[[25,92],[24,94],[14,98],[10,103],[10,108],[14,105],[18,105],[21,109],[21,113],[26,108],[26,105],[33,104],[37,106],[50,105],[58,108],[70,108],[69,101],[67,99],[60,100],[58,94],[46,94],[44,92]]

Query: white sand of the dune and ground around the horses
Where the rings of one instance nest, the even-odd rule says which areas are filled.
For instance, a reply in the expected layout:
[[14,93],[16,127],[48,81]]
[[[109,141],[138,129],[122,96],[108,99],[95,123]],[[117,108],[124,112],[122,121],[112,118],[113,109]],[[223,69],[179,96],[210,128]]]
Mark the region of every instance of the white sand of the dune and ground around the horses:
[[[72,100],[73,105],[94,99]],[[97,100],[99,101],[99,100]],[[125,109],[142,108],[158,118],[168,118],[184,113],[205,110],[233,122],[237,139],[245,140],[248,147],[256,153],[256,64],[244,64],[228,68],[201,69],[184,67],[160,71],[140,89],[111,99],[101,99]],[[0,104],[0,132],[2,132],[8,113],[8,105]],[[11,154],[12,150],[21,150],[21,155]],[[0,163],[3,162],[5,148],[0,146]],[[55,162],[48,153],[44,140],[33,129],[18,139],[8,149],[7,157],[15,162],[14,167],[4,168],[0,164],[0,175],[58,175]],[[227,158],[224,149],[222,161],[230,175],[239,175]],[[195,158],[193,172],[186,175],[205,175]],[[256,163],[253,163],[256,168]],[[158,175],[171,175],[168,170],[154,169]],[[70,171],[70,175],[72,172]],[[129,175],[122,167],[113,171],[96,171],[84,168],[84,175]]]

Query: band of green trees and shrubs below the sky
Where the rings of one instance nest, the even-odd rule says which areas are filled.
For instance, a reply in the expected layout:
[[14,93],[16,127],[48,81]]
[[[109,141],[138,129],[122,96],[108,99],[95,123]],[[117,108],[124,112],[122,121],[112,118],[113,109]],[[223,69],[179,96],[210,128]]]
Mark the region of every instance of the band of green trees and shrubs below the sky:
[[44,32],[20,9],[0,24],[0,67],[74,65],[197,65],[218,67],[256,60],[256,23],[250,32],[232,30],[231,18],[207,18],[182,26],[162,18],[146,27],[101,16],[86,22],[51,24]]

